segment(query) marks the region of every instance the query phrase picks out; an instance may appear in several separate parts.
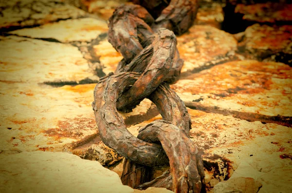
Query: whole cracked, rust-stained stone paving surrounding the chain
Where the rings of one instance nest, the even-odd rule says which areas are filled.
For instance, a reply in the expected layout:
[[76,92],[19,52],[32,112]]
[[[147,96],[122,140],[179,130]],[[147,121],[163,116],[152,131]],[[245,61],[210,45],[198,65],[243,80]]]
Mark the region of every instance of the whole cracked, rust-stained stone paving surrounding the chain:
[[[140,192],[101,168],[121,175],[123,162],[101,141],[91,107],[94,83],[122,59],[107,40],[105,21],[122,2],[0,3],[0,178],[5,180],[0,192],[18,192],[18,184],[23,192]],[[289,18],[290,12],[278,10],[276,18],[269,15],[271,9],[258,12],[259,4],[242,7],[246,17],[257,7],[259,18],[268,16],[278,26],[255,24],[243,32],[262,22],[233,22],[231,28],[238,24],[244,29],[231,35],[220,30],[222,7],[227,17],[223,29],[230,18],[222,2],[203,0],[197,25],[177,37],[184,67],[171,88],[189,107],[190,137],[202,153],[208,192],[223,187],[225,192],[286,193],[292,189],[292,40],[291,26],[277,19]],[[121,115],[135,136],[161,119],[149,100]],[[165,169],[158,167],[153,177]],[[53,185],[40,189],[46,181]],[[145,192],[163,191],[169,192]]]

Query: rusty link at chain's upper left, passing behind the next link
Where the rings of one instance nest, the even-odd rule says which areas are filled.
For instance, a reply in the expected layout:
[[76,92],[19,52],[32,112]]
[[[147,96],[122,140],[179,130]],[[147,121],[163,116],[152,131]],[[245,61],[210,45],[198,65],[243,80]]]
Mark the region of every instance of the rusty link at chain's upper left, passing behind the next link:
[[[149,27],[153,22],[154,19],[151,15],[139,5],[122,5],[115,10],[109,19],[108,39],[112,46],[124,56],[115,73],[125,71],[142,73],[145,70],[147,62],[149,62],[147,58],[150,58],[152,54],[152,50],[147,48],[157,36]],[[159,33],[159,29],[157,32]],[[143,69],[133,70],[131,69],[133,66],[139,66]],[[176,81],[182,67],[183,60],[176,49],[171,70],[165,75],[164,81],[168,83]]]

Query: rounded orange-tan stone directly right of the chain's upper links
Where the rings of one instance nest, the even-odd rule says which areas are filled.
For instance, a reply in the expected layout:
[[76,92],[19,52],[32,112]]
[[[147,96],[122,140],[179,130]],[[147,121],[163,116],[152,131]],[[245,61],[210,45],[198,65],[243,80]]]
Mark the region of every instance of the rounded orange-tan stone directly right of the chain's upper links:
[[207,25],[194,25],[177,40],[184,60],[181,76],[232,60],[237,50],[237,41],[232,35]]

